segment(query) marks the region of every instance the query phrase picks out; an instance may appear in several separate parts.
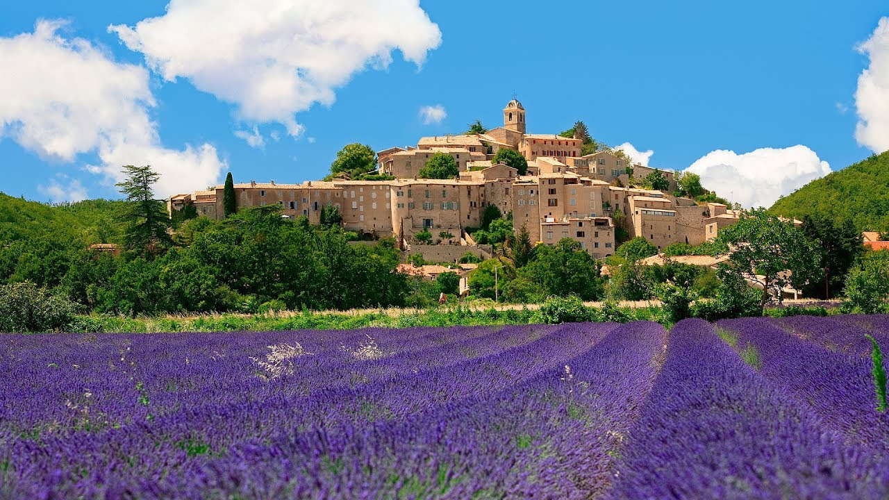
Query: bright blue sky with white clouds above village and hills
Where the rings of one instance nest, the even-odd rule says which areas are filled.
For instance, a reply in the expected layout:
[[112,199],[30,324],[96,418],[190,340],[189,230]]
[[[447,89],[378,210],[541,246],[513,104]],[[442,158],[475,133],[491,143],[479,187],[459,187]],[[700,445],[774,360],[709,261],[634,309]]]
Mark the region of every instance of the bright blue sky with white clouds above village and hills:
[[[42,201],[116,198],[116,163],[143,161],[163,165],[164,191],[201,188],[228,171],[236,181],[312,180],[348,142],[384,149],[462,132],[476,118],[500,125],[514,92],[529,132],[558,133],[582,119],[597,140],[629,142],[649,165],[695,164],[705,185],[745,204],[767,205],[828,165],[889,149],[881,139],[889,138],[889,68],[877,68],[889,65],[889,20],[880,23],[889,8],[875,0],[258,0],[224,12],[207,0],[167,4],[0,6],[0,190]],[[270,20],[242,11],[260,4],[264,12],[293,9]],[[356,4],[382,6],[331,34],[324,20],[353,15]],[[319,14],[319,5],[331,12]],[[66,22],[35,36],[38,20]],[[313,41],[286,50],[264,44],[292,39],[292,26]],[[220,42],[245,30],[259,35],[236,48]],[[868,40],[868,50],[856,48]],[[329,52],[312,57],[316,43]],[[380,53],[391,54],[388,64]],[[90,61],[68,66],[68,57]],[[869,90],[856,101],[871,66]],[[262,68],[283,73],[263,76]],[[278,105],[268,95],[288,71],[312,88]],[[252,88],[264,78],[268,86]],[[58,100],[81,112],[53,114]],[[45,102],[30,105],[36,101]],[[424,106],[446,117],[424,123]],[[70,130],[83,133],[59,146]],[[735,190],[739,184],[761,184],[768,194]]]

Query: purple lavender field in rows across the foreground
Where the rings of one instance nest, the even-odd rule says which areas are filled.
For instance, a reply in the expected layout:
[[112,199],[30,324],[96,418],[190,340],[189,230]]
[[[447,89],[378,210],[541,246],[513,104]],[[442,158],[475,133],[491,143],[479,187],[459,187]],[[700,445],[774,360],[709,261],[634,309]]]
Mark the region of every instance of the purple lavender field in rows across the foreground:
[[0,336],[0,498],[886,498],[889,317]]

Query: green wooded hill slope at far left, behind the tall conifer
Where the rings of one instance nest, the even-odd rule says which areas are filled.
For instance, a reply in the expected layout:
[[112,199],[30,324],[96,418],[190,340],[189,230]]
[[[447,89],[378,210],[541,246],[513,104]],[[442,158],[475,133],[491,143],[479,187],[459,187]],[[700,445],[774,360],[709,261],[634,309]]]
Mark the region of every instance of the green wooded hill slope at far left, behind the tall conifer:
[[121,201],[91,199],[60,206],[12,198],[0,192],[0,244],[55,235],[84,243],[118,243],[123,226],[117,220]]

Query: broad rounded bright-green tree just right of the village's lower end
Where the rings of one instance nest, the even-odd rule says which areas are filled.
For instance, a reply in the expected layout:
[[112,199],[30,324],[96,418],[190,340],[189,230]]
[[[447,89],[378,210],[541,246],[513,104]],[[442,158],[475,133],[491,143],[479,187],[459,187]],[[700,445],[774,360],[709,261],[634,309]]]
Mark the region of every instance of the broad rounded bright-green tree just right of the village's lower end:
[[728,254],[728,262],[720,264],[725,273],[762,286],[761,310],[771,294],[780,301],[785,287],[802,289],[817,272],[820,260],[819,249],[803,231],[763,209],[741,214],[736,224],[719,230],[712,251]]

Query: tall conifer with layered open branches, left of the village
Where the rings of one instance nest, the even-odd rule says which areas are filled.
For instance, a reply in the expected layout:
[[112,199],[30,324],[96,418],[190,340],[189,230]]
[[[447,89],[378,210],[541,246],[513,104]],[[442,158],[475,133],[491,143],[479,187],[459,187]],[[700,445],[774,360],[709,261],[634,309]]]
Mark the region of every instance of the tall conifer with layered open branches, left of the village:
[[155,199],[154,186],[160,174],[151,170],[150,165],[124,165],[124,181],[116,186],[126,197],[126,205],[121,218],[127,229],[124,243],[138,254],[156,255],[172,245],[167,233],[170,217],[164,202]]

